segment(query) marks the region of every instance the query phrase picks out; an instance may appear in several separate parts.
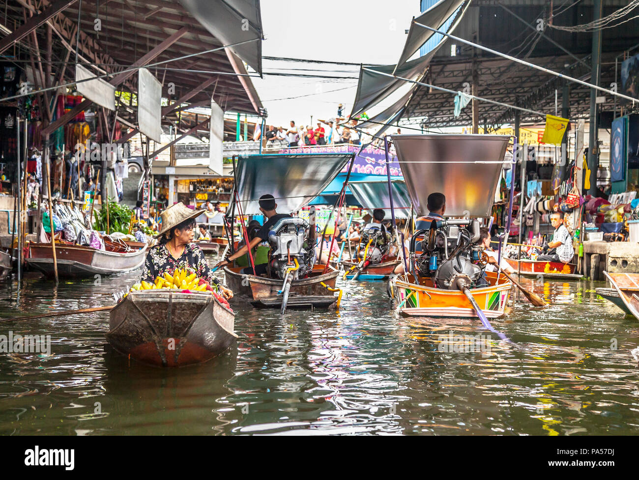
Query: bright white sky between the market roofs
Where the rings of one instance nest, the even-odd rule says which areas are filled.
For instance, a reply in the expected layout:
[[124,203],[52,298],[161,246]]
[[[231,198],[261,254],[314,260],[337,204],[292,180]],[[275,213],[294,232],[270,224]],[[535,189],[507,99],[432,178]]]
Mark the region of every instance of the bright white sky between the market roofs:
[[[263,0],[261,13],[266,38],[262,43],[263,56],[379,64],[397,62],[406,41],[404,31],[410,27],[412,17],[420,15],[419,0]],[[340,71],[308,72],[289,70],[291,68]],[[314,79],[264,75],[264,79],[252,79],[268,110],[266,124],[287,127],[290,120],[295,120],[298,126],[307,125],[311,115],[315,123],[318,118],[335,117],[340,102],[344,103],[344,115],[350,114],[358,67],[265,59],[263,70],[355,77]],[[288,97],[298,98],[279,100]],[[381,105],[387,107],[393,101],[389,98]]]

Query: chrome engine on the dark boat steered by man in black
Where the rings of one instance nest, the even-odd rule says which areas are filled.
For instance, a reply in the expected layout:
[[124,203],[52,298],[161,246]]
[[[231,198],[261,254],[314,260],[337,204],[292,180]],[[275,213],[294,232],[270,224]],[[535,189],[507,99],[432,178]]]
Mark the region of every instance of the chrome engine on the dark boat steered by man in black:
[[303,218],[282,218],[268,232],[270,275],[281,280],[298,280],[312,271],[314,249],[305,248],[309,224]]

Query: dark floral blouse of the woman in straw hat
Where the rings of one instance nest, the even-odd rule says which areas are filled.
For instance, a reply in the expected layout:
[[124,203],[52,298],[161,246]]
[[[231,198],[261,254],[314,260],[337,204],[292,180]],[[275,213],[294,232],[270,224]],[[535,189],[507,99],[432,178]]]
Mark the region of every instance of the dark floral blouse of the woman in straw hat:
[[187,243],[178,260],[173,258],[166,244],[152,246],[146,255],[142,280],[153,283],[158,275],[168,273],[173,275],[176,268],[193,269],[199,278],[209,283],[219,283],[204,258],[204,252],[194,243]]

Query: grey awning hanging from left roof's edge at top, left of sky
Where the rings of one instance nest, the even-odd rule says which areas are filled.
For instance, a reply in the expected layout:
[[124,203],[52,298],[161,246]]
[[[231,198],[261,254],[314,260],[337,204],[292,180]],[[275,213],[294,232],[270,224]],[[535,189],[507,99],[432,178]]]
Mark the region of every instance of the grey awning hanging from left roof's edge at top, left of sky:
[[[259,0],[180,0],[200,24],[262,75],[262,17]],[[258,39],[258,40],[254,40]],[[254,40],[254,41],[247,41]]]

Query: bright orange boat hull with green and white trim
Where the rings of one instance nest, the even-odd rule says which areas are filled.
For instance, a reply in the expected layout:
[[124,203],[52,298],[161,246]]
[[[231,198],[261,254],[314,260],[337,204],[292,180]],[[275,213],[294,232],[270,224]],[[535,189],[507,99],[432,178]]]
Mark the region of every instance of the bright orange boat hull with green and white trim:
[[[505,313],[512,283],[502,275],[486,272],[491,283],[488,287],[472,289],[473,298],[489,319],[502,317]],[[435,289],[429,278],[420,279],[420,285],[412,283],[412,276],[401,275],[394,280],[399,313],[405,317],[477,318],[477,313],[458,290]]]

